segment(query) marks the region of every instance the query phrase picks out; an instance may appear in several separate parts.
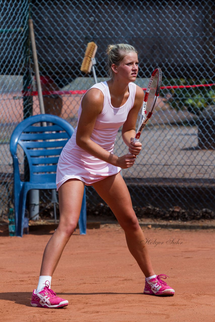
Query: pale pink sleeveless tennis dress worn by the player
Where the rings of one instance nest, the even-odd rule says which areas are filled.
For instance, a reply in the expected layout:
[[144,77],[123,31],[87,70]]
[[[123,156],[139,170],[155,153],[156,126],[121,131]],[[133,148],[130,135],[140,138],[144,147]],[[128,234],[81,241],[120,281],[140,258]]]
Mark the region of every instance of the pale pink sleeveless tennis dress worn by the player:
[[[104,95],[103,110],[96,118],[91,139],[105,150],[113,153],[117,132],[120,126],[126,121],[128,113],[133,107],[136,85],[129,83],[129,97],[125,104],[119,108],[111,105],[111,96],[106,81],[95,84],[91,88],[101,90]],[[81,111],[80,104],[78,120]],[[76,144],[76,131],[77,127],[59,157],[56,173],[57,190],[68,179],[76,178],[83,181],[86,185],[92,185],[109,175],[117,174],[121,170],[120,167],[97,159],[80,148]]]

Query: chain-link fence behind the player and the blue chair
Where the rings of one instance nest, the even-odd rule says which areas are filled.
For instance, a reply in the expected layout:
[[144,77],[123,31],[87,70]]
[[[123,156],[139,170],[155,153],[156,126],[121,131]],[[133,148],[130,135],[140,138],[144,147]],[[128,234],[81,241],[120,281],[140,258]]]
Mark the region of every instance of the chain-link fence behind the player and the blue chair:
[[[109,43],[130,43],[139,53],[136,83],[145,88],[155,67],[162,86],[214,83],[213,1],[50,1],[0,0],[0,216],[13,200],[9,140],[23,119],[40,113],[28,19],[35,40],[45,111],[73,127],[82,94],[93,75],[80,71],[87,43],[98,50],[98,81],[107,80]],[[68,94],[69,93],[69,94]],[[158,107],[142,134],[143,150],[132,168],[122,171],[133,204],[163,209],[214,207],[215,86],[161,90]],[[127,153],[119,131],[115,154]],[[100,202],[87,188],[88,203]],[[42,196],[41,211],[50,204]]]

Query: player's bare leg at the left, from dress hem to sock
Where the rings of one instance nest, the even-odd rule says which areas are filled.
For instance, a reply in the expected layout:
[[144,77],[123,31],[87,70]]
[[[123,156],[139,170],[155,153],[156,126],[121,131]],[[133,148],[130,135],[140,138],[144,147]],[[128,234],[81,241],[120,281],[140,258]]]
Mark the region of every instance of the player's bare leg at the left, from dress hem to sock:
[[77,179],[70,179],[59,188],[60,222],[44,250],[40,275],[53,275],[64,247],[77,226],[83,191],[84,183]]

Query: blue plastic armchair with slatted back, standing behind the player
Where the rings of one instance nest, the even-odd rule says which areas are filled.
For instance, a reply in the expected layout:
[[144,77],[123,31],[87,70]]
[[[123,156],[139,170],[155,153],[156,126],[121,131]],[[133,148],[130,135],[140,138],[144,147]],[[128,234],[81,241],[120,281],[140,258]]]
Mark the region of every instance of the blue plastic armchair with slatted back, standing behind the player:
[[[50,114],[39,114],[24,119],[12,133],[10,152],[14,166],[16,236],[22,237],[23,235],[27,192],[31,189],[56,189],[57,162],[64,145],[73,132],[73,127],[62,118]],[[20,178],[17,145],[22,147],[28,161],[30,180],[27,182],[21,181]],[[86,234],[85,189],[78,224],[80,234]]]

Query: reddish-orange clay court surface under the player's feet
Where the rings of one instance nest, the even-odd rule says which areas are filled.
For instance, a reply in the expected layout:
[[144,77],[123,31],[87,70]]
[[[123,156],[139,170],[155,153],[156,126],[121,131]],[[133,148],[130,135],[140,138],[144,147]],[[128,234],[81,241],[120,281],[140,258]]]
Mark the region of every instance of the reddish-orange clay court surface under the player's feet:
[[[33,308],[44,247],[53,232],[0,235],[0,321],[214,321],[214,230],[145,229],[156,274],[169,275],[173,297],[143,295],[144,278],[117,225],[102,225],[67,244],[52,289],[69,305]],[[170,244],[175,238],[176,244]],[[155,241],[156,239],[156,241]]]

